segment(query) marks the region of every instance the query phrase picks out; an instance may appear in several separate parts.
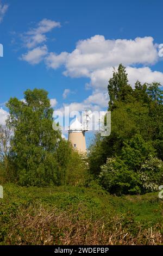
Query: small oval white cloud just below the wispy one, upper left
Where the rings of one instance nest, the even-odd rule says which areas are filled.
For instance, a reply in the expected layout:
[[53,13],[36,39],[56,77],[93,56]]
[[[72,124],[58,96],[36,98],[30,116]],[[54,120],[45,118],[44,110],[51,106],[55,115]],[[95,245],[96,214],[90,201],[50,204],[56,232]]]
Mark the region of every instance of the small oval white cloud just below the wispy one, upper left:
[[29,64],[35,65],[41,62],[43,57],[47,55],[47,46],[36,47],[33,50],[29,50],[27,53],[22,54],[21,59],[25,60]]

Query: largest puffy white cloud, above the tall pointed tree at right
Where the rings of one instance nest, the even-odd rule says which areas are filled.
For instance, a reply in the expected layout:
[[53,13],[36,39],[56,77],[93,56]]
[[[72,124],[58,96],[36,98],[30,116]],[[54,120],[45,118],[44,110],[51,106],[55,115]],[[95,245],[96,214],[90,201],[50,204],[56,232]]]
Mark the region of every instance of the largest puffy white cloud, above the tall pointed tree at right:
[[[57,56],[55,54],[55,64],[57,57],[59,59],[61,54]],[[66,71],[64,74],[71,77],[89,77],[93,71],[120,63],[123,65],[153,64],[157,60],[158,52],[151,36],[135,38],[135,40],[106,40],[103,35],[95,35],[78,41],[76,49],[65,54]],[[52,58],[49,66],[53,68]]]

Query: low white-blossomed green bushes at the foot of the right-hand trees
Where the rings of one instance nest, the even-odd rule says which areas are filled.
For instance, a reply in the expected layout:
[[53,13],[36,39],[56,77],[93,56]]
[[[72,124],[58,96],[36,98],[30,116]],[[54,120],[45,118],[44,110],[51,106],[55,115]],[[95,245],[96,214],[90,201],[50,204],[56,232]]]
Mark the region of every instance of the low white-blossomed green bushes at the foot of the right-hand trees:
[[101,167],[99,182],[107,191],[118,196],[157,191],[163,182],[163,162],[151,156],[140,169],[134,171],[118,157],[107,159]]

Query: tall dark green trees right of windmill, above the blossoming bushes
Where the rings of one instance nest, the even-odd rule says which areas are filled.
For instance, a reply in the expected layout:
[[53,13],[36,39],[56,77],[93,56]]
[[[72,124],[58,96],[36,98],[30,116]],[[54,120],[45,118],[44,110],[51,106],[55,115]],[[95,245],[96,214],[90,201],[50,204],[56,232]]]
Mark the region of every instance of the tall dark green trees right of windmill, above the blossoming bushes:
[[141,84],[137,81],[133,89],[122,64],[114,71],[108,86],[111,134],[108,137],[96,135],[90,146],[92,174],[98,176],[108,158],[119,157],[130,175],[138,172],[150,156],[163,160],[163,105],[159,87],[156,82]]

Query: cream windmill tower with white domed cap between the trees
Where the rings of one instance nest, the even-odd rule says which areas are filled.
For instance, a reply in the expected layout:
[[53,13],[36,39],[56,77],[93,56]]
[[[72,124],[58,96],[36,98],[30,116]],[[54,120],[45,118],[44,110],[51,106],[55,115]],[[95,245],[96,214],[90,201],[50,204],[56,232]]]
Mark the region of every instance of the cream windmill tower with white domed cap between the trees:
[[79,153],[86,153],[85,132],[89,131],[89,114],[85,111],[86,120],[81,124],[76,117],[76,120],[70,125],[68,130],[68,141],[72,143],[72,147]]

